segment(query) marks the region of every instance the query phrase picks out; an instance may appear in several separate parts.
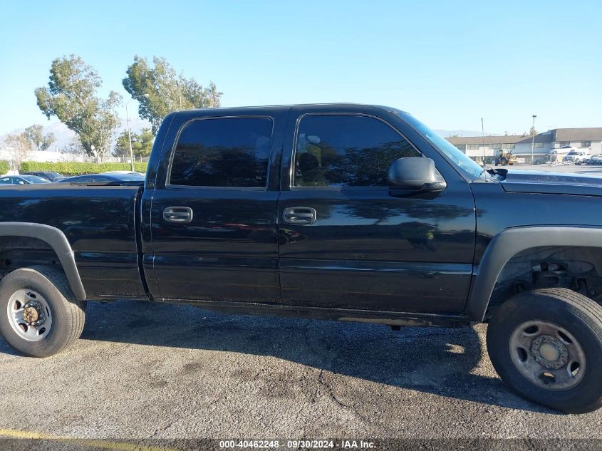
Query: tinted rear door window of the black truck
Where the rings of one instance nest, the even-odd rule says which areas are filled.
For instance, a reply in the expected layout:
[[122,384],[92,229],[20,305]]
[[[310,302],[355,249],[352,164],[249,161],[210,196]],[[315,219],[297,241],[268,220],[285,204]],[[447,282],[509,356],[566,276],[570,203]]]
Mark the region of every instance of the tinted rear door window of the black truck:
[[271,130],[269,118],[188,123],[177,141],[170,185],[265,187]]

